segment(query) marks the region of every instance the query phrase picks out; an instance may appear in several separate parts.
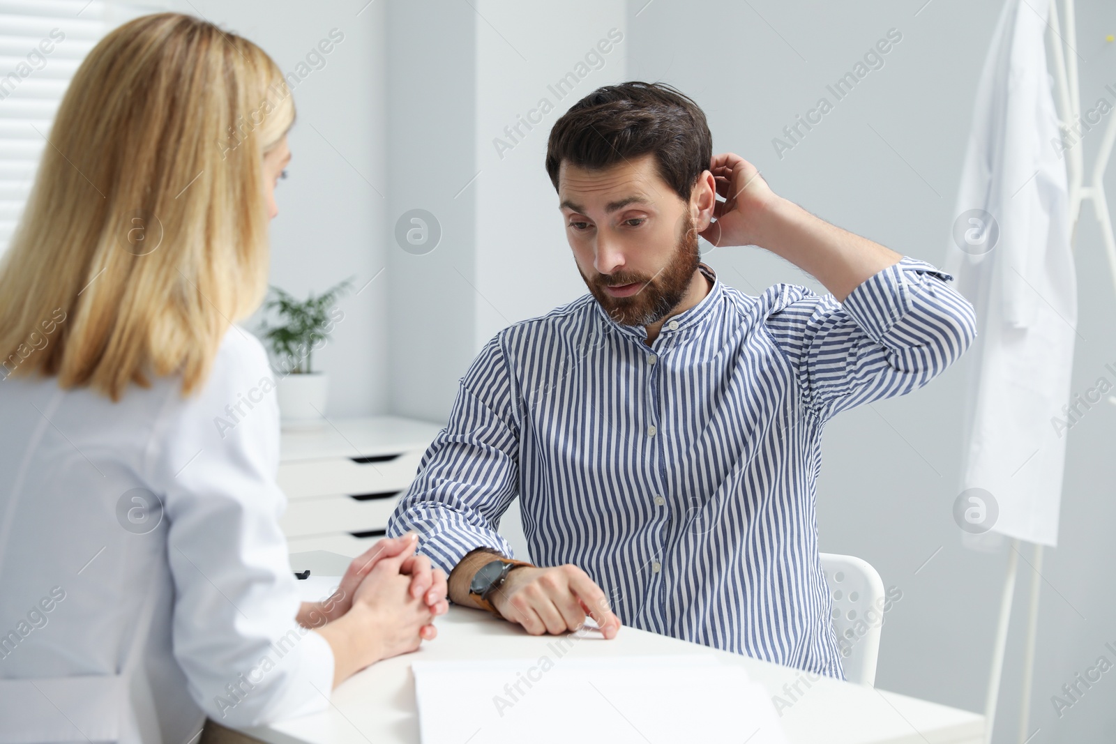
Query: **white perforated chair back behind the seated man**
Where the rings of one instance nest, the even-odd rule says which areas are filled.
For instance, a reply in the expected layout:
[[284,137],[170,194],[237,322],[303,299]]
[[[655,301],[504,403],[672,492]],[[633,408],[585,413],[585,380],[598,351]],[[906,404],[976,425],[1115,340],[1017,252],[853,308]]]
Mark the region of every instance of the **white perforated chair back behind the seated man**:
[[821,569],[833,598],[834,632],[845,678],[874,686],[879,627],[884,621],[884,582],[870,563],[853,555],[821,553]]

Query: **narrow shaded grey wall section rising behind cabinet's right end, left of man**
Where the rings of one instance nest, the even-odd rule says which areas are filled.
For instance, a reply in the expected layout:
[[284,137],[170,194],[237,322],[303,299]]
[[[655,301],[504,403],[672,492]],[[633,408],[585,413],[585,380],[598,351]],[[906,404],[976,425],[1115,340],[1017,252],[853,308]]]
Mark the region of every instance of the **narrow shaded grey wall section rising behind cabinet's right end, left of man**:
[[[389,219],[375,240],[387,250],[388,406],[444,421],[456,379],[479,350],[470,286],[477,191],[465,187],[477,172],[474,12],[469,3],[391,2],[387,23]],[[427,228],[441,230],[436,244],[431,233],[414,253],[395,235],[411,210],[425,210]]]

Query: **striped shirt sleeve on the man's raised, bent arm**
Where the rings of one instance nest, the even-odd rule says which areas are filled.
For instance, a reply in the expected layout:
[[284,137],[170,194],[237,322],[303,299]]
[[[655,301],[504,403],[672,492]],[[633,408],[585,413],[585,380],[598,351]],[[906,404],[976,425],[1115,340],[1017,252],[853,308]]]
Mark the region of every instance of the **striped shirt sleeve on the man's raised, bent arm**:
[[[906,395],[956,361],[977,337],[972,305],[949,273],[903,257],[844,302],[802,287],[768,290],[766,325],[821,418]],[[780,299],[782,301],[780,301]]]

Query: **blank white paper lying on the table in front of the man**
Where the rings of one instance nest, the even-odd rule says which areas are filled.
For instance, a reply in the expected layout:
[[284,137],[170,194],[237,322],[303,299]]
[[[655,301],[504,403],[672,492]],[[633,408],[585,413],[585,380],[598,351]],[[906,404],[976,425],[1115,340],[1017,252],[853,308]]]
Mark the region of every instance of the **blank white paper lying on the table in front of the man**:
[[713,655],[571,659],[561,640],[538,658],[413,663],[423,744],[787,741],[763,686]]

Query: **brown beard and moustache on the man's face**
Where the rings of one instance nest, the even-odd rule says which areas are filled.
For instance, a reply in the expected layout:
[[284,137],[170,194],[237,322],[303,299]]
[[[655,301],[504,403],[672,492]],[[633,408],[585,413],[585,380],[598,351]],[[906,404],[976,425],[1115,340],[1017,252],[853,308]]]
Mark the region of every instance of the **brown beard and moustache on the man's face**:
[[[607,276],[597,274],[596,279],[590,281],[580,267],[577,268],[578,273],[613,320],[623,326],[652,326],[676,308],[690,291],[690,282],[693,281],[694,271],[701,262],[698,232],[693,228],[693,218],[690,212],[685,212],[677,249],[666,268],[654,277],[639,277],[620,271]],[[613,297],[604,289],[633,282],[650,283],[631,297]]]

